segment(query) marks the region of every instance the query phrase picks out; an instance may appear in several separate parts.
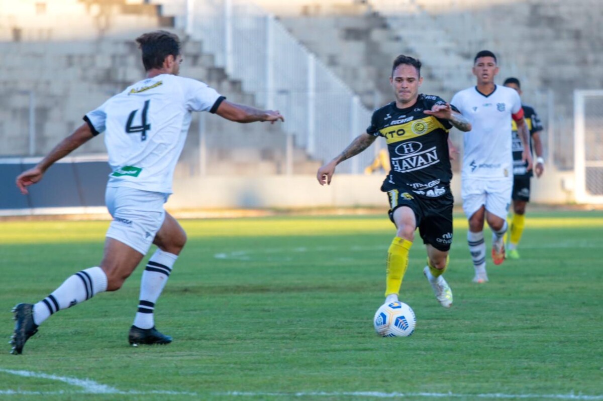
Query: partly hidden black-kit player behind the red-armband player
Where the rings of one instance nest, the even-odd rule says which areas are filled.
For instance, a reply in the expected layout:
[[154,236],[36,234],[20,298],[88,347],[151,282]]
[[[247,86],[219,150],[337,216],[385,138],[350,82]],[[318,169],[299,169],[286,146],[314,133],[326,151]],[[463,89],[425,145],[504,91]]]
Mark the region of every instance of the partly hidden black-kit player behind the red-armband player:
[[[513,77],[507,78],[504,85],[515,89],[521,96],[522,89],[519,79]],[[540,140],[540,132],[543,130],[543,126],[534,108],[525,104],[522,104],[522,108],[531,138],[529,144],[530,151],[535,151],[536,153],[534,171],[536,177],[540,178],[545,171],[545,160],[542,157],[543,146]],[[511,217],[511,234],[509,235],[507,244],[507,258],[509,259],[519,259],[517,245],[522,238],[523,227],[525,226],[526,205],[529,202],[530,193],[530,179],[533,176],[532,170],[528,170],[525,161],[522,160],[522,151],[522,143],[519,135],[517,135],[517,126],[513,122],[513,217]]]

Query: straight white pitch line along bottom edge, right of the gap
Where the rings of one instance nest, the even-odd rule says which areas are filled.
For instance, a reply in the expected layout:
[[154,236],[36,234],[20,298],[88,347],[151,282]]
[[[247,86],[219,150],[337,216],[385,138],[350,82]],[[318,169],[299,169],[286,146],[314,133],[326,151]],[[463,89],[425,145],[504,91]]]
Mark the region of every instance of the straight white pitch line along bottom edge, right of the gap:
[[543,399],[543,400],[603,400],[603,396],[585,396],[582,394],[454,394],[454,393],[380,393],[377,391],[347,392],[304,392],[304,393],[253,393],[243,391],[230,391],[228,393],[215,393],[222,396],[273,396],[273,397],[373,397],[373,398],[487,398],[487,399]]

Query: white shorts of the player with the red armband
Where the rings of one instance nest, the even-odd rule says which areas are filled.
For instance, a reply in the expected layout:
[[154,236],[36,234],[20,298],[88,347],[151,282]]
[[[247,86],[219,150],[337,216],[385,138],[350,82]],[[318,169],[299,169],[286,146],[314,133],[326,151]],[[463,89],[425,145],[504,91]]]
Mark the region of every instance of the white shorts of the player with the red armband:
[[482,205],[489,213],[507,219],[513,191],[513,176],[502,179],[465,179],[461,184],[463,211],[470,219]]

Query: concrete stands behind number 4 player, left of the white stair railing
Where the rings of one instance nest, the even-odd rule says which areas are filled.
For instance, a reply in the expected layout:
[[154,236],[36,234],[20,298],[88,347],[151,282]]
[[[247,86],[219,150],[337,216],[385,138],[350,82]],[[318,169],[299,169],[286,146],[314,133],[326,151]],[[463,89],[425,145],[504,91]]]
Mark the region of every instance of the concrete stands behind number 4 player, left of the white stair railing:
[[[162,16],[157,5],[131,0],[62,3],[65,7],[59,10],[48,2],[46,9],[32,19],[25,17],[28,10],[11,8],[13,15],[6,14],[7,8],[0,8],[0,156],[28,155],[28,92],[36,95],[34,155],[43,155],[80,125],[87,111],[144,76],[140,53],[133,42],[136,36],[170,29],[165,25],[171,19]],[[77,23],[60,23],[65,19]],[[10,28],[11,24],[18,28]],[[40,36],[41,31],[46,36]],[[185,38],[182,32],[175,33]],[[241,82],[215,67],[212,55],[203,52],[203,43],[185,42],[183,76],[206,82],[229,101],[254,105],[253,94],[243,92]],[[285,171],[287,138],[278,124],[237,124],[205,114],[206,173]],[[200,172],[200,118],[195,117],[191,125],[177,175]],[[103,152],[101,135],[74,154]],[[294,148],[292,157],[294,172],[314,173],[320,165],[319,161],[308,160],[300,149]]]

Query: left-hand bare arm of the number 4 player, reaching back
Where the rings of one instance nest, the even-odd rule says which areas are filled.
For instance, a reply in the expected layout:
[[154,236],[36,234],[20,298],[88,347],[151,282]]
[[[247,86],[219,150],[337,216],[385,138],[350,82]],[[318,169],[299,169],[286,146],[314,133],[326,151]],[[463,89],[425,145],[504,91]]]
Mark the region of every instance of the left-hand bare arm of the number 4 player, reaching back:
[[75,149],[79,148],[81,145],[84,145],[84,143],[93,137],[94,135],[92,135],[90,126],[87,123],[83,123],[74,131],[73,134],[60,141],[60,143],[55,146],[54,149],[52,149],[52,151],[50,151],[50,153],[40,161],[40,163],[17,176],[16,184],[17,187],[19,187],[19,190],[21,190],[21,193],[27,195],[29,193],[27,187],[39,182],[44,176],[46,170],[48,170],[48,167],[52,166],[55,161],[60,160],[66,155],[75,151]]

